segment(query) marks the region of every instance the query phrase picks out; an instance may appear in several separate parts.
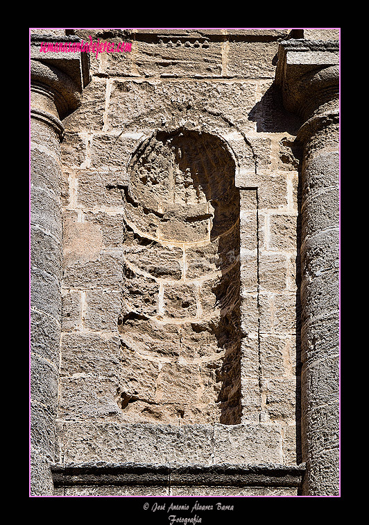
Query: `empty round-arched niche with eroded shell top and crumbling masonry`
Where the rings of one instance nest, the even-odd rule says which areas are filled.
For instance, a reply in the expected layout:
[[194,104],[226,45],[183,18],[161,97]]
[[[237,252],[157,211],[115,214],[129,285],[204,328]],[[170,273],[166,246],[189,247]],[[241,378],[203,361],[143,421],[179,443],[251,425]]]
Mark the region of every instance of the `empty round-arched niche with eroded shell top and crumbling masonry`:
[[129,422],[241,421],[239,191],[221,138],[142,143],[122,191],[121,381]]

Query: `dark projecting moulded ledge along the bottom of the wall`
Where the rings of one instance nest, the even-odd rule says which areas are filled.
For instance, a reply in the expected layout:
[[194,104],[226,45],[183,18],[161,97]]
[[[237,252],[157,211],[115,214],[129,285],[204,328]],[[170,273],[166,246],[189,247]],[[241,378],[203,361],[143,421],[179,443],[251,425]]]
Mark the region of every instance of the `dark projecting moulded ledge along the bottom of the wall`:
[[301,465],[193,465],[172,467],[140,463],[67,463],[53,465],[55,487],[71,485],[205,485],[234,487],[300,487]]

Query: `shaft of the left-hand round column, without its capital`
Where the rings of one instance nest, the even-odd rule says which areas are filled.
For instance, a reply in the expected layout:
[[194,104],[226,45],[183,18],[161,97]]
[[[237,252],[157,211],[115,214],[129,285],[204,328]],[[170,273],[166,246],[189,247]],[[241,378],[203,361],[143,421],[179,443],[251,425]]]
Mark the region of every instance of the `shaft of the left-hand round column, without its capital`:
[[51,94],[31,88],[31,492],[37,495],[53,493],[55,462],[62,277],[56,115]]

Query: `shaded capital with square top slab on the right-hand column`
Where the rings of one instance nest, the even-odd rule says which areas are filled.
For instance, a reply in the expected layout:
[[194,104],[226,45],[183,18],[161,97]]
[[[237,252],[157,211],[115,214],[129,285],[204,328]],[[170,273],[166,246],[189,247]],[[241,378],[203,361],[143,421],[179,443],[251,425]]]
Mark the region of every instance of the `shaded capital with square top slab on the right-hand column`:
[[306,121],[338,100],[339,45],[336,40],[291,39],[280,43],[275,83],[284,107]]

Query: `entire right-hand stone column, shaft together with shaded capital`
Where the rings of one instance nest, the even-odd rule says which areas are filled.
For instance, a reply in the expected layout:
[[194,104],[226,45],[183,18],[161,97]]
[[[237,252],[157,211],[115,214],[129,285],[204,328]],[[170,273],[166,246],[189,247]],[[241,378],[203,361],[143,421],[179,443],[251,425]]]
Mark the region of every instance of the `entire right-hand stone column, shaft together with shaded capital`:
[[339,494],[338,42],[280,45],[276,83],[302,127],[301,355],[304,495]]

